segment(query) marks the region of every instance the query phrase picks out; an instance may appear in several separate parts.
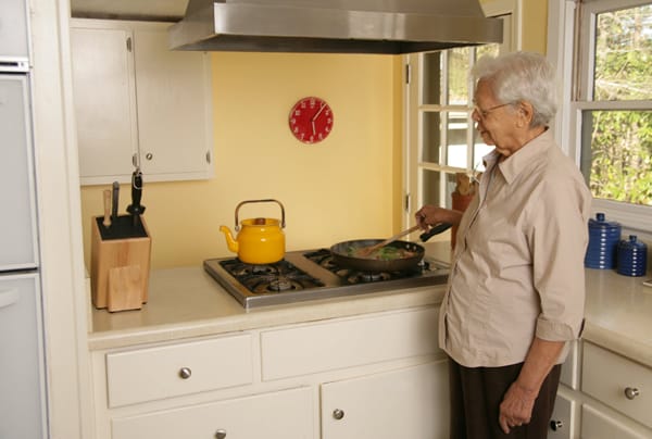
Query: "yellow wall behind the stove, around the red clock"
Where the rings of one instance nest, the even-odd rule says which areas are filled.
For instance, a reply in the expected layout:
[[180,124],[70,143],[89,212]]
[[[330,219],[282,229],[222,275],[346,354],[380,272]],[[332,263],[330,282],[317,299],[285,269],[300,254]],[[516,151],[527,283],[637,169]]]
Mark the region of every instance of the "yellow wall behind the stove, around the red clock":
[[[243,200],[284,203],[288,250],[385,237],[400,227],[392,224],[400,187],[394,175],[400,163],[392,163],[400,162],[400,57],[211,57],[215,177],[155,184],[143,176],[152,267],[198,265],[233,254],[218,228],[233,229],[235,208]],[[335,125],[325,141],[306,146],[291,136],[287,117],[299,98],[312,95],[328,101]],[[90,217],[101,214],[105,188],[82,188],[87,264]],[[128,186],[121,193],[125,212]],[[240,220],[254,216],[280,217],[280,212],[275,204],[241,208]]]

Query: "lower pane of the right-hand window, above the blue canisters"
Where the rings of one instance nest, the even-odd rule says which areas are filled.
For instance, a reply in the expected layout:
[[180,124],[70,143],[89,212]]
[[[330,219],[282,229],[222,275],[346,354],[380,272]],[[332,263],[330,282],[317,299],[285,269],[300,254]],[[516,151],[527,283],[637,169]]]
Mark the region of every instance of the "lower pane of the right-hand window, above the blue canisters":
[[652,205],[652,111],[585,111],[581,155],[593,197]]

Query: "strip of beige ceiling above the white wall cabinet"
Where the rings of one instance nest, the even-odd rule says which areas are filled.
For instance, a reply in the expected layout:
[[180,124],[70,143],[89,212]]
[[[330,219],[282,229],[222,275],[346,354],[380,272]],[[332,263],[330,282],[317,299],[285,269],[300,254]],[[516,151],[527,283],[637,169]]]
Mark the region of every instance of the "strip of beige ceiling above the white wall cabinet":
[[177,22],[188,0],[71,0],[72,16]]

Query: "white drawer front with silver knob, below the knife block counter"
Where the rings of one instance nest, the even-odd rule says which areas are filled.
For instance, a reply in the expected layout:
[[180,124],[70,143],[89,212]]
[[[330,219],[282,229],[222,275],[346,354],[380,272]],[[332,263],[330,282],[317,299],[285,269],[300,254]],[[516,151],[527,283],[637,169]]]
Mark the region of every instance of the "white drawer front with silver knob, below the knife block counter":
[[109,406],[252,381],[250,335],[106,354]]

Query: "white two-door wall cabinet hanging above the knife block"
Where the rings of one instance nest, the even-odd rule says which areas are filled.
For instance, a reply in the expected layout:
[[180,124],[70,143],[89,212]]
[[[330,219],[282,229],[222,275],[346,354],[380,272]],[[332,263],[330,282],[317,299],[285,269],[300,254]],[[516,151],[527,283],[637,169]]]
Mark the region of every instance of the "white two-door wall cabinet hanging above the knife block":
[[170,23],[71,25],[82,184],[211,177],[209,55],[168,50]]

